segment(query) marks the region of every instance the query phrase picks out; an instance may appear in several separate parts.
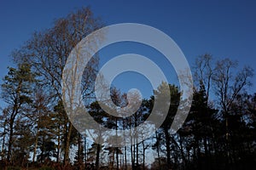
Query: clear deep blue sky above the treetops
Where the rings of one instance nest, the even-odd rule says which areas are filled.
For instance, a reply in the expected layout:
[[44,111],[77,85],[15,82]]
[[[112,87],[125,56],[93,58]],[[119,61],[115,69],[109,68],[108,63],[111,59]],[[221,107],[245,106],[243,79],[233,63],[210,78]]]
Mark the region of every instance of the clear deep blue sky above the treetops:
[[[215,59],[228,57],[236,59],[239,65],[255,68],[256,3],[253,0],[178,2],[2,0],[0,2],[0,77],[6,75],[7,66],[12,65],[9,58],[11,51],[19,48],[29,39],[33,31],[49,28],[53,26],[55,19],[65,17],[69,12],[88,5],[106,25],[135,22],[164,31],[177,42],[190,65],[194,63],[196,56],[210,53]],[[132,44],[128,47],[135,49]],[[151,52],[151,55],[156,53]],[[160,63],[164,62],[162,60]],[[172,69],[168,70],[166,67],[166,72],[169,71],[172,72]],[[122,79],[117,78],[116,82],[118,84]],[[255,78],[253,84],[250,91],[256,92]]]

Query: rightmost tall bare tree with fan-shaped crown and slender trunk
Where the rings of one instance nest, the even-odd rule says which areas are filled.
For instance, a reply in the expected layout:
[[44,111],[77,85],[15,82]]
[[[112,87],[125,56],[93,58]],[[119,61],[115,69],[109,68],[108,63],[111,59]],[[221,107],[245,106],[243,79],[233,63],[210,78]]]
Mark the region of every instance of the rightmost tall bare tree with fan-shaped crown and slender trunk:
[[230,108],[234,103],[237,95],[239,95],[243,88],[250,85],[249,78],[253,77],[253,69],[244,67],[234,75],[237,63],[230,59],[219,60],[215,67],[215,72],[212,77],[215,92],[219,99],[219,105],[223,111],[225,120],[225,148],[227,151],[226,165],[229,166],[230,158],[230,129],[229,118]]

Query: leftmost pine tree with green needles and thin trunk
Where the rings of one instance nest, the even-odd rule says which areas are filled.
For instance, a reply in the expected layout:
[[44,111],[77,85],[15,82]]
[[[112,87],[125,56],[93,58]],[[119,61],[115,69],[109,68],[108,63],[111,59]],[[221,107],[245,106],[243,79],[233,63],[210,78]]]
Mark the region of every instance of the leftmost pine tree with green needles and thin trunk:
[[26,105],[32,104],[32,83],[35,75],[31,71],[31,65],[23,63],[18,68],[9,68],[7,76],[3,78],[2,99],[7,103],[5,116],[9,126],[9,143],[7,160],[11,160],[11,154],[15,137],[15,124],[17,118],[22,116]]

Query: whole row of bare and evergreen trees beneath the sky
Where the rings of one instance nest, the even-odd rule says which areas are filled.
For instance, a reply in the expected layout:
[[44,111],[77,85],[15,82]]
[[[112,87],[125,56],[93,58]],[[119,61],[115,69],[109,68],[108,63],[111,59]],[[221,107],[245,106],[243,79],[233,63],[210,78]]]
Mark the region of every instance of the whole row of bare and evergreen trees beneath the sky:
[[[38,31],[12,57],[16,65],[3,77],[0,114],[0,169],[250,169],[256,162],[256,94],[249,92],[253,69],[240,69],[231,59],[211,54],[195,60],[194,95],[189,116],[177,133],[172,122],[181,99],[177,85],[163,82],[154,96],[143,99],[132,116],[109,116],[95,101],[96,54],[81,83],[84,105],[104,127],[137,127],[150,115],[154,99],[171,94],[165,121],[152,137],[133,145],[96,144],[80,134],[65,111],[61,78],[71,50],[104,26],[90,8],[81,8]],[[97,37],[102,38],[102,35]],[[165,88],[167,85],[167,89]],[[115,105],[127,105],[127,94],[111,88]],[[88,102],[90,101],[90,102]],[[166,104],[162,104],[166,105]],[[161,111],[159,111],[161,116]],[[147,130],[147,129],[145,129]],[[139,135],[139,134],[138,134]],[[133,140],[133,139],[131,139]]]

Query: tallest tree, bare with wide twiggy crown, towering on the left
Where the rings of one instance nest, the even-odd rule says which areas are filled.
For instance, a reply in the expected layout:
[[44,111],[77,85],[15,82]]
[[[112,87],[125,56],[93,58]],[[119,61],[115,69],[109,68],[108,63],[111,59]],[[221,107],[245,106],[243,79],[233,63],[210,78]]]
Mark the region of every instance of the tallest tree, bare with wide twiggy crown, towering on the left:
[[[68,55],[84,37],[101,27],[102,21],[93,16],[90,8],[81,8],[75,13],[68,14],[66,18],[55,20],[52,28],[35,32],[24,47],[15,51],[15,61],[30,63],[32,70],[37,72],[39,79],[42,80],[45,93],[51,94],[52,100],[56,102],[62,99],[61,78]],[[90,64],[84,71],[83,92],[86,97],[93,88],[89,84],[95,77],[93,75],[97,64],[96,57],[90,59]],[[67,127],[63,147],[64,161],[67,164],[73,126],[69,121],[63,123],[66,123]]]

